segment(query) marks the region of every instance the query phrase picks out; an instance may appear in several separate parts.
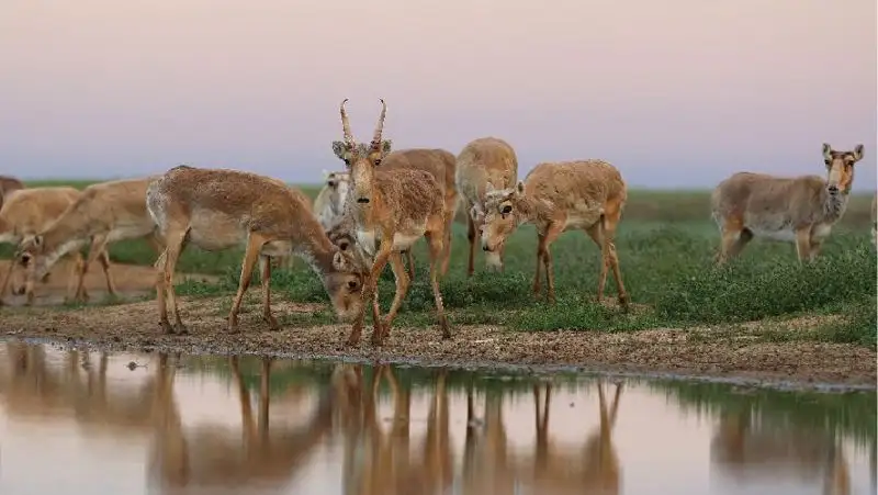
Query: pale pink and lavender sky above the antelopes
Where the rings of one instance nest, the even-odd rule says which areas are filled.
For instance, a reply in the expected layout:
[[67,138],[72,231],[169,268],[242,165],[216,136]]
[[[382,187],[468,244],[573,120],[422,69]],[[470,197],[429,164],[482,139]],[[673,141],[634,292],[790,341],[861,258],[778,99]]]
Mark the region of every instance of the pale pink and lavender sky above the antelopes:
[[2,0],[0,173],[181,162],[318,182],[338,105],[395,148],[507,139],[519,176],[604,158],[629,187],[823,173],[866,147],[874,0]]

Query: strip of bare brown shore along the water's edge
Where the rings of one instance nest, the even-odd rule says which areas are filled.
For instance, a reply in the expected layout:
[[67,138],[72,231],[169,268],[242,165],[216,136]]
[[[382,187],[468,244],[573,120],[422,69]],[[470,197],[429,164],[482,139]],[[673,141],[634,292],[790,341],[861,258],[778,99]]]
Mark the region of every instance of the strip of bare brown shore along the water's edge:
[[[256,291],[254,291],[256,292]],[[348,325],[270,331],[261,322],[258,293],[248,294],[238,334],[226,333],[229,297],[181,297],[181,316],[190,335],[159,331],[154,301],[69,311],[42,307],[4,308],[0,336],[87,341],[98,346],[182,352],[258,353],[289,357],[337,357],[423,364],[572,365],[589,370],[672,373],[763,383],[834,384],[875,387],[875,349],[847,344],[804,340],[784,342],[754,338],[761,324],[734,327],[652,329],[631,333],[584,330],[511,331],[496,326],[453,326],[441,340],[437,328],[394,328],[387,344],[374,349],[369,333],[357,348],[341,342]],[[325,311],[322,304],[278,301],[278,316]],[[817,319],[815,319],[817,318]],[[831,318],[831,317],[829,317]],[[452,319],[453,322],[453,319]],[[770,328],[797,331],[822,324],[823,317],[773,322]]]

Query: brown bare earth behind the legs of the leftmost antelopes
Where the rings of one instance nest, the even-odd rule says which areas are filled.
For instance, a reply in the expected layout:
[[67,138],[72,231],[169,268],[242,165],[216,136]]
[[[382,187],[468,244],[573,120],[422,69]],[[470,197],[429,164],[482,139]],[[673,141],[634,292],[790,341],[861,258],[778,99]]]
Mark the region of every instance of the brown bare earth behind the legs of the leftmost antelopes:
[[[9,270],[9,260],[0,260],[0,277],[4,277]],[[63,259],[59,260],[49,272],[49,278],[45,282],[37,282],[34,286],[34,305],[35,306],[52,306],[63,304],[67,286],[70,282],[70,268],[72,261]],[[113,277],[116,293],[120,299],[138,299],[151,293],[156,284],[156,270],[153,267],[143,267],[137,265],[113,263],[110,267],[110,273]],[[187,280],[200,280],[204,282],[214,282],[218,280],[215,275],[205,275],[198,273],[179,273],[175,278],[176,283],[182,283]],[[10,289],[23,286],[23,270],[16,269],[13,271],[10,281]],[[83,281],[86,290],[89,293],[89,301],[101,301],[108,295],[106,279],[103,274],[103,269],[99,263],[94,263],[89,268]],[[0,297],[0,304],[10,306],[20,306],[24,304],[24,295],[10,295],[5,293]]]

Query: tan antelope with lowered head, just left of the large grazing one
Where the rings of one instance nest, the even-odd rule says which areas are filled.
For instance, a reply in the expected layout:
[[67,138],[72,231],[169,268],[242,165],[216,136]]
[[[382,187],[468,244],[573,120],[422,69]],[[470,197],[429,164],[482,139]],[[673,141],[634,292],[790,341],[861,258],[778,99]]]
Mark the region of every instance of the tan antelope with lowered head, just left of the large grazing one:
[[151,179],[114,180],[89,185],[53,223],[24,239],[18,256],[29,268],[27,286],[42,279],[60,257],[89,245],[89,256],[77,277],[77,294],[81,294],[83,301],[88,300],[85,274],[95,260],[100,260],[106,291],[111,296],[116,295],[108,246],[120,240],[146,238],[157,255],[162,249],[144,202],[146,185]]

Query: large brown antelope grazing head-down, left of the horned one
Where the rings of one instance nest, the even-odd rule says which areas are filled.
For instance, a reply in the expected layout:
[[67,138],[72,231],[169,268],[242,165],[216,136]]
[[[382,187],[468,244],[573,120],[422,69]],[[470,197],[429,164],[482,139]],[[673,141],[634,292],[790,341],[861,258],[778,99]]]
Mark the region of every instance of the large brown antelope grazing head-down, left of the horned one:
[[[146,204],[166,246],[156,262],[161,328],[169,334],[187,333],[172,282],[177,260],[188,244],[212,251],[246,246],[238,292],[228,314],[230,331],[237,331],[238,311],[257,261],[262,319],[270,328],[279,328],[271,314],[270,258],[289,252],[305,259],[320,277],[341,319],[361,315],[362,268],[329,241],[305,203],[304,194],[279,180],[238,170],[179,166],[151,182]],[[168,320],[168,305],[173,326]]]

